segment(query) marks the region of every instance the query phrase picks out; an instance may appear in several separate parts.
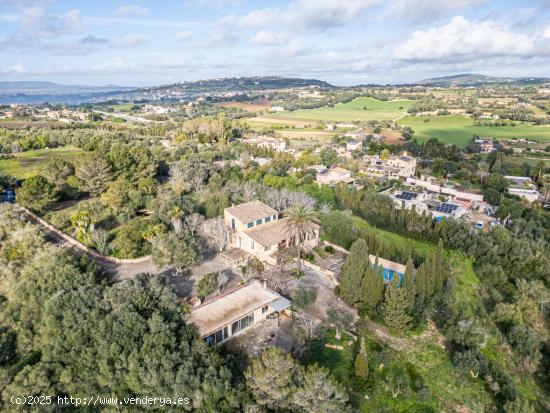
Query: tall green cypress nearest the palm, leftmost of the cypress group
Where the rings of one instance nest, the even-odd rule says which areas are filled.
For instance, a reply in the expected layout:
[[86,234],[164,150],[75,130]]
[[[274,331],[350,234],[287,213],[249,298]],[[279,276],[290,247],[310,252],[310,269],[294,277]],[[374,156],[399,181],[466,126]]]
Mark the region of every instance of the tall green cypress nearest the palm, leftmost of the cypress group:
[[361,283],[368,266],[369,250],[365,240],[360,238],[351,246],[342,270],[340,295],[347,303],[353,305],[361,301]]

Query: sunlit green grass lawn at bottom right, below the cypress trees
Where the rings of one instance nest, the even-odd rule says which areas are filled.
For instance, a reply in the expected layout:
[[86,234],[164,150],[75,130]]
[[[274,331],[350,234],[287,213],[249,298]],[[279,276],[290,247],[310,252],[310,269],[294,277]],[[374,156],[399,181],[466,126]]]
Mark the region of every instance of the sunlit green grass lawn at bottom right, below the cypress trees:
[[[387,346],[370,333],[366,337],[369,362],[366,381],[354,375],[359,343],[348,346],[346,337],[336,342],[332,331],[310,343],[302,357],[306,365],[318,363],[328,368],[344,385],[352,405],[360,412],[453,411],[457,406],[485,411],[493,404],[480,380],[465,379],[457,372],[439,343],[439,334],[432,332],[404,338],[401,350]],[[344,349],[327,348],[325,343],[339,344]],[[403,383],[402,392],[395,398],[386,381],[391,371],[397,371]]]

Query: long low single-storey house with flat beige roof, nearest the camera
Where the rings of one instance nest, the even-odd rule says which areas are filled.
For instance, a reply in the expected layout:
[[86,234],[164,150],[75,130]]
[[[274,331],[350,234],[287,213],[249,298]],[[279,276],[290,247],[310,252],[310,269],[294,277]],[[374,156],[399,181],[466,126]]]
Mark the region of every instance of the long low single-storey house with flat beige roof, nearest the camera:
[[208,344],[218,344],[289,307],[285,297],[252,281],[192,309],[188,323]]

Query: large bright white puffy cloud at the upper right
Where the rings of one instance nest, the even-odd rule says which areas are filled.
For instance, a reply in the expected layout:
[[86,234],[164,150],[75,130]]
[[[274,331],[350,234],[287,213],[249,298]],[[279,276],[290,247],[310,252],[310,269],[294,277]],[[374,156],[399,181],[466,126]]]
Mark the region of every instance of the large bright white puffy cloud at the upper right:
[[542,40],[540,34],[515,32],[492,20],[469,21],[457,16],[443,26],[414,32],[395,48],[394,56],[410,61],[530,57],[542,50]]

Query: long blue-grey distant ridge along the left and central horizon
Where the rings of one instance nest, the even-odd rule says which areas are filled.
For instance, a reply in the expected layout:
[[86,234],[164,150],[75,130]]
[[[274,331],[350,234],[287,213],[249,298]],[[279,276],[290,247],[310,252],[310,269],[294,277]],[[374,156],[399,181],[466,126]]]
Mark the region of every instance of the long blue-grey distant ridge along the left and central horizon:
[[0,82],[0,103],[97,103],[111,100],[178,101],[217,93],[297,87],[333,87],[316,79],[278,76],[197,80],[161,86],[128,88],[118,86],[61,85],[53,82]]

